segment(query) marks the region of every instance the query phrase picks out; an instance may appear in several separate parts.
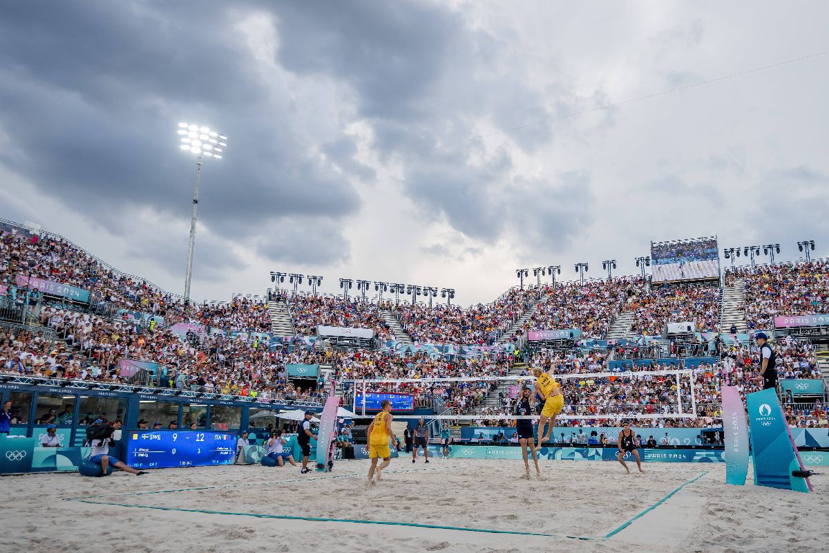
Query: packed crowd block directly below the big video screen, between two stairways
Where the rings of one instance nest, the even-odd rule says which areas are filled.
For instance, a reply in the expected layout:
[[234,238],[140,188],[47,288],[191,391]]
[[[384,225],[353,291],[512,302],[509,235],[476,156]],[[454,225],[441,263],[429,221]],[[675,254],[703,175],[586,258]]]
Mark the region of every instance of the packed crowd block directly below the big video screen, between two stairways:
[[720,327],[719,288],[663,286],[639,292],[628,305],[636,334],[662,334],[667,323],[696,323],[696,332],[716,332]]

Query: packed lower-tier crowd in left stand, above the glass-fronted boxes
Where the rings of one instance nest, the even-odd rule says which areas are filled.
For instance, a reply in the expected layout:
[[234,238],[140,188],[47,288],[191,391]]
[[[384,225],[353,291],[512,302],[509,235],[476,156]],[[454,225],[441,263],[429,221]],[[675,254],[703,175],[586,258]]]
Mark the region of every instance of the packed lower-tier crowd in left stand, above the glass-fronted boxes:
[[[135,320],[111,320],[65,308],[46,307],[41,322],[56,332],[0,331],[2,371],[112,384],[134,381],[132,361],[158,363],[153,384],[161,387],[252,396],[312,400],[321,382],[288,382],[287,363],[313,363],[324,354],[269,349],[256,340],[221,334],[177,336]],[[138,382],[146,383],[146,382]]]

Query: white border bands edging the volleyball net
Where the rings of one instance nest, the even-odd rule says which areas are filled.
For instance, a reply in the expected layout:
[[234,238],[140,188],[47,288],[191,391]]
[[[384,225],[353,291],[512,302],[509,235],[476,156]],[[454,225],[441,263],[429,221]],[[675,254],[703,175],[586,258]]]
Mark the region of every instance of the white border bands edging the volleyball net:
[[[609,378],[609,377],[616,377],[616,378],[641,378],[647,376],[674,376],[676,377],[676,412],[674,413],[637,413],[637,412],[623,412],[623,413],[591,413],[591,414],[572,414],[568,413],[567,411],[572,411],[574,407],[579,407],[583,405],[566,405],[565,410],[562,411],[560,415],[555,417],[555,420],[658,420],[658,419],[696,419],[696,391],[694,386],[694,371],[692,369],[686,369],[684,367],[684,362],[681,367],[667,369],[662,371],[606,371],[606,372],[580,372],[580,373],[556,373],[555,379],[558,381],[568,381],[573,379],[578,380],[590,380],[596,378]],[[682,410],[682,386],[681,380],[683,377],[687,377],[690,388],[691,388],[691,412],[685,412]],[[376,378],[376,379],[343,379],[343,382],[352,382],[354,383],[354,388],[359,386],[359,389],[362,391],[361,401],[357,401],[356,394],[354,395],[354,407],[355,412],[356,409],[359,407],[361,408],[361,416],[366,416],[366,392],[369,393],[387,393],[390,391],[395,390],[380,390],[376,391],[376,388],[379,386],[370,386],[370,385],[392,385],[395,386],[398,390],[400,390],[400,385],[405,384],[439,384],[442,382],[449,383],[449,382],[509,382],[509,381],[523,381],[530,383],[535,381],[536,377],[527,375],[527,376],[458,376],[458,377],[447,377],[447,378]],[[405,390],[400,391],[400,393],[405,393]],[[416,392],[415,392],[416,393]],[[358,405],[358,403],[360,405]],[[630,406],[633,404],[626,404],[625,406]],[[570,408],[570,409],[568,409]],[[473,415],[452,415],[447,413],[447,410],[441,410],[442,412],[439,415],[400,415],[395,413],[395,420],[418,420],[424,419],[431,421],[436,420],[538,420],[539,415],[506,415],[506,414],[484,414],[479,412],[478,414]]]

